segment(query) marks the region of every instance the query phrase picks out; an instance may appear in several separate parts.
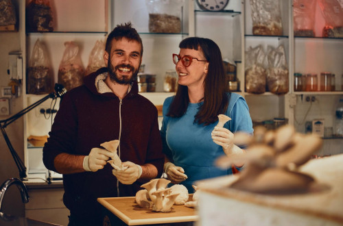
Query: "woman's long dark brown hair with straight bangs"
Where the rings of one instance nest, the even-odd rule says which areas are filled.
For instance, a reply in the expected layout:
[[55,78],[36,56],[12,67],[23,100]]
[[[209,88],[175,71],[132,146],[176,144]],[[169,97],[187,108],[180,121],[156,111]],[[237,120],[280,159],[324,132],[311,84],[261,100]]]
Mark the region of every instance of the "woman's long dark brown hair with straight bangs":
[[[209,125],[218,120],[218,114],[224,114],[228,107],[228,84],[224,73],[222,53],[213,40],[209,38],[189,37],[180,42],[180,49],[195,49],[204,53],[209,61],[208,73],[204,79],[204,103],[194,117],[194,123]],[[188,87],[178,85],[174,100],[171,102],[167,116],[180,117],[187,111],[189,103]]]

